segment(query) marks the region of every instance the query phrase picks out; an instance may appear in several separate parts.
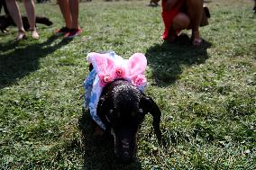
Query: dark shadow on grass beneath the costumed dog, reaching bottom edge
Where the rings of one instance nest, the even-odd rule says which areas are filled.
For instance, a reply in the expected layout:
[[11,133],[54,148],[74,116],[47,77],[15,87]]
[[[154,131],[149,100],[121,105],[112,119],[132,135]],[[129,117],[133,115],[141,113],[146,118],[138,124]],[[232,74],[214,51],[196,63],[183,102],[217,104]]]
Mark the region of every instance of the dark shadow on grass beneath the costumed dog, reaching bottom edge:
[[139,161],[128,165],[118,163],[114,156],[114,137],[110,134],[94,136],[93,121],[89,112],[83,111],[79,129],[83,135],[84,170],[141,170]]

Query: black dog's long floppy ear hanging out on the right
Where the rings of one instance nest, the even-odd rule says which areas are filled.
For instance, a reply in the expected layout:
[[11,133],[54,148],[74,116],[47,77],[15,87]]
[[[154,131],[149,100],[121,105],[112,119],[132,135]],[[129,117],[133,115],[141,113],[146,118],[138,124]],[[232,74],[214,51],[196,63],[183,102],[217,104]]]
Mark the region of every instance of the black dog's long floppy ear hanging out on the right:
[[153,128],[157,139],[161,143],[161,132],[160,132],[160,108],[159,106],[151,99],[149,96],[142,96],[142,100],[140,102],[140,107],[142,108],[143,112],[151,113],[153,116]]

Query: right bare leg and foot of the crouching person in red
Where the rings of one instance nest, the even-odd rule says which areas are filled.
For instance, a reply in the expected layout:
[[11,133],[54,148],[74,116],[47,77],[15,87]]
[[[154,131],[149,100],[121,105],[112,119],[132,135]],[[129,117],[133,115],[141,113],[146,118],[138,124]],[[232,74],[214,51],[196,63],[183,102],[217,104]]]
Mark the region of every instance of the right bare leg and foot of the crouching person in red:
[[202,0],[187,0],[187,14],[190,18],[192,29],[192,43],[195,46],[200,46],[202,40],[199,35],[199,25],[203,14]]

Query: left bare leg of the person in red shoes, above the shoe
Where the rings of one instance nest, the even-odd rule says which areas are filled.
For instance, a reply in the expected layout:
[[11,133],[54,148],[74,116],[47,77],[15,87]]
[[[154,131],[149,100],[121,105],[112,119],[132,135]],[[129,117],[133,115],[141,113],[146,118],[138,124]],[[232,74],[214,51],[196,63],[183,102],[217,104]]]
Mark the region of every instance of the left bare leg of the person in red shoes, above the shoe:
[[[72,0],[71,0],[72,1]],[[69,9],[69,0],[58,0],[59,9],[64,17],[66,27],[72,28],[72,17]]]

